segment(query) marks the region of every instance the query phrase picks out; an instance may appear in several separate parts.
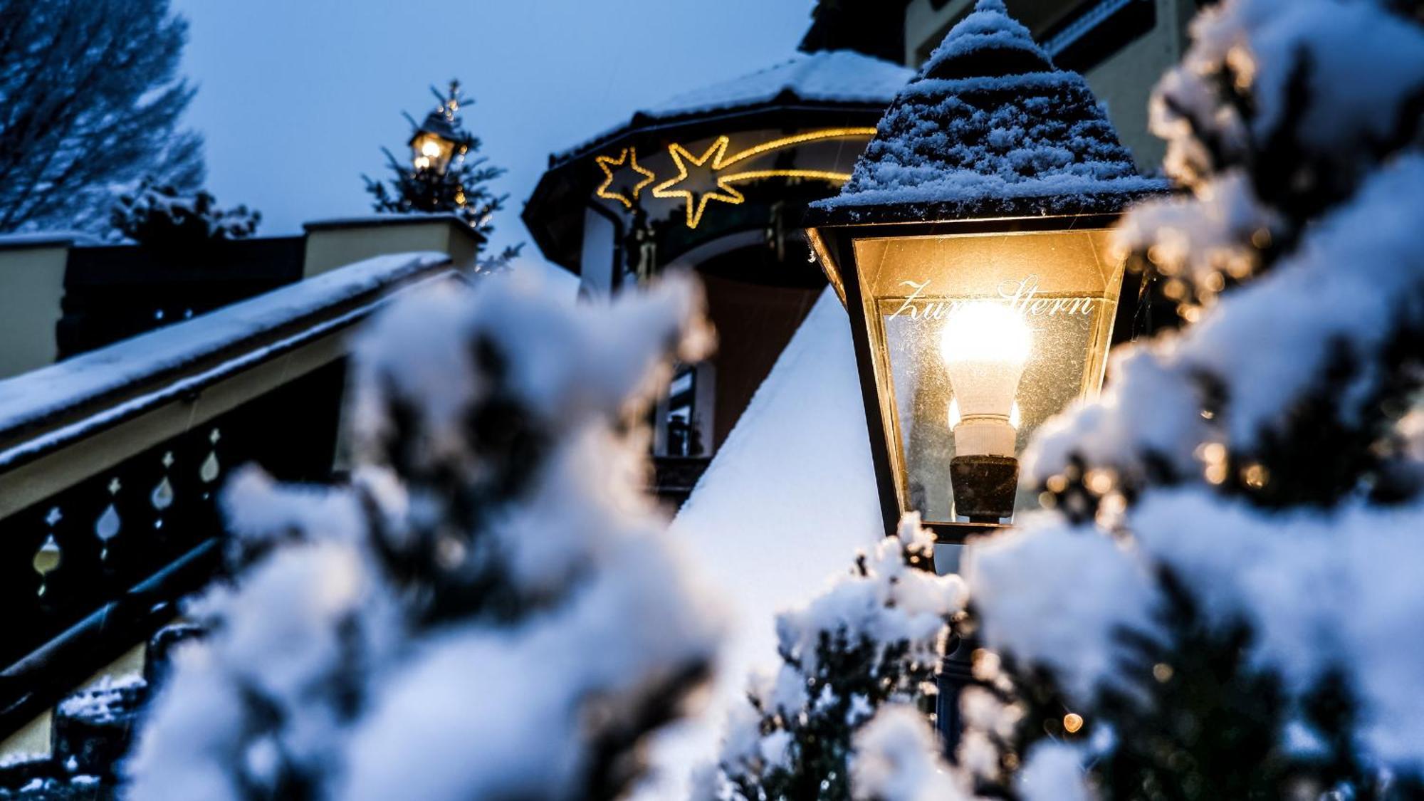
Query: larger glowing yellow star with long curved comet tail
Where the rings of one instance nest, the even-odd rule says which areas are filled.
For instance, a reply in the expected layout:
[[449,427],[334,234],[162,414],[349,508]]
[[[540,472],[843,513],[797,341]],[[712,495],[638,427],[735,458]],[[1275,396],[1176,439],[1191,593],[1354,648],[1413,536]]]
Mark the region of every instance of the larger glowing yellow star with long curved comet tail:
[[[830,172],[824,170],[752,170],[745,172],[722,172],[722,170],[743,161],[746,158],[753,158],[763,155],[773,150],[780,150],[783,147],[795,147],[819,140],[832,138],[847,138],[847,137],[871,137],[874,135],[874,128],[829,128],[824,131],[813,131],[809,134],[799,134],[793,137],[785,137],[779,140],[772,140],[769,143],[762,143],[756,147],[743,150],[733,155],[726,155],[726,147],[731,144],[731,138],[726,135],[718,137],[712,145],[701,157],[692,155],[681,144],[668,145],[668,155],[672,157],[672,162],[678,167],[678,175],[672,180],[664,181],[652,188],[652,197],[655,198],[686,198],[686,218],[688,228],[696,228],[702,222],[702,212],[708,208],[708,201],[719,200],[722,202],[729,202],[732,205],[740,204],[746,198],[742,192],[732,187],[735,181],[755,181],[759,178],[815,178],[820,181],[830,181],[833,184],[842,184],[850,178],[846,172]],[[682,184],[691,175],[688,164],[699,168],[701,181],[693,182],[693,185],[708,185],[715,184],[716,188],[708,192],[699,192],[692,188],[674,190],[672,187]]]

